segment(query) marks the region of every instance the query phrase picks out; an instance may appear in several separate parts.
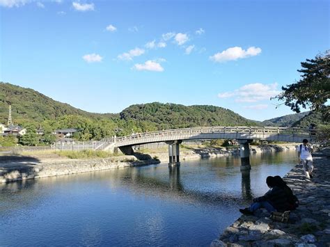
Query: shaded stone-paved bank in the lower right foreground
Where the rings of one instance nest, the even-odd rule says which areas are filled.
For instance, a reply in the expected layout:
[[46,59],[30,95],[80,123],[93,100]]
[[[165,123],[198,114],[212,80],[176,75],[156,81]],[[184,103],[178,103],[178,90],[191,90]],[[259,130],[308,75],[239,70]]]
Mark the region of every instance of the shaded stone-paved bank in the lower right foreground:
[[330,157],[324,154],[315,154],[313,179],[306,179],[301,165],[283,177],[299,199],[288,223],[259,209],[238,218],[211,246],[330,246]]

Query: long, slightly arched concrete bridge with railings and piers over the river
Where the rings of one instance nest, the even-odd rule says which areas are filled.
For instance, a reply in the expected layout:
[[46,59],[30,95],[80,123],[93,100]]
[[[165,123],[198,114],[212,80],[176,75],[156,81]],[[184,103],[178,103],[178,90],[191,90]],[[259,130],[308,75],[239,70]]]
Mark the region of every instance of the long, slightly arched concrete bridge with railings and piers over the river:
[[168,129],[113,138],[112,148],[119,148],[124,154],[133,154],[132,146],[146,143],[165,142],[168,144],[170,165],[180,165],[180,143],[182,141],[236,139],[239,142],[242,170],[251,168],[249,163],[249,143],[253,140],[285,141],[301,143],[306,138],[314,143],[315,130],[286,127],[194,127]]

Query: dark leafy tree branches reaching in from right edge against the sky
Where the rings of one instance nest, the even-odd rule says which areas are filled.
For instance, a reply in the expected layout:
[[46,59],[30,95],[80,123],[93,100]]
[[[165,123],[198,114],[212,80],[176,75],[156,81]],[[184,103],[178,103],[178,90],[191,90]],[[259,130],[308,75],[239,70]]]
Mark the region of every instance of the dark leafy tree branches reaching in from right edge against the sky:
[[283,92],[274,98],[284,100],[283,104],[297,113],[301,107],[317,111],[324,109],[324,104],[330,98],[330,50],[314,59],[306,59],[301,67],[298,70],[302,73],[301,79],[297,83],[283,86]]

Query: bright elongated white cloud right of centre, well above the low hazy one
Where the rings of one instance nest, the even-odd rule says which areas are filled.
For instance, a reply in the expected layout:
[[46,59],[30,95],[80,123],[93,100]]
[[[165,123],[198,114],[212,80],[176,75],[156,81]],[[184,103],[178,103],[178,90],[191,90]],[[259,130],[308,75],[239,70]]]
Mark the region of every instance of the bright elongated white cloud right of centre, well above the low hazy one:
[[235,61],[239,58],[248,58],[249,56],[257,56],[261,53],[259,47],[249,47],[249,49],[244,50],[242,47],[230,47],[224,51],[218,52],[213,56],[210,56],[210,60],[214,62],[226,62]]

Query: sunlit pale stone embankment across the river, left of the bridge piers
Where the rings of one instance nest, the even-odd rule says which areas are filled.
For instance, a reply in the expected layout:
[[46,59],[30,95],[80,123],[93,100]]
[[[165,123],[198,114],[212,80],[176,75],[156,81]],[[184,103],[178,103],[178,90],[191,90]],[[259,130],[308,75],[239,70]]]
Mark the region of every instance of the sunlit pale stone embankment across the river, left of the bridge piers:
[[[19,158],[19,157],[17,157]],[[19,180],[37,179],[41,177],[53,177],[74,173],[86,173],[96,170],[108,170],[132,166],[146,166],[158,164],[155,159],[138,161],[135,157],[125,159],[53,159],[51,161],[39,161],[32,157],[22,157],[0,163],[0,183]]]

